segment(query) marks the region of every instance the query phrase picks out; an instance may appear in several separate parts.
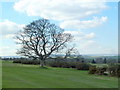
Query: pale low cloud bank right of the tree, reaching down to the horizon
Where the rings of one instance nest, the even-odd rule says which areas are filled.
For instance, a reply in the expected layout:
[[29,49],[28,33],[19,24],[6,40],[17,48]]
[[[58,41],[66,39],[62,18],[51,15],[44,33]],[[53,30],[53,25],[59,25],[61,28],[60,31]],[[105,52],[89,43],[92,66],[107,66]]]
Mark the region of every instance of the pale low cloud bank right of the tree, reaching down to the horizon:
[[73,42],[80,54],[117,54],[117,48],[105,47],[95,40],[96,34],[80,31],[65,31],[74,36]]

